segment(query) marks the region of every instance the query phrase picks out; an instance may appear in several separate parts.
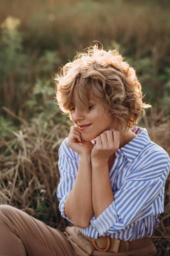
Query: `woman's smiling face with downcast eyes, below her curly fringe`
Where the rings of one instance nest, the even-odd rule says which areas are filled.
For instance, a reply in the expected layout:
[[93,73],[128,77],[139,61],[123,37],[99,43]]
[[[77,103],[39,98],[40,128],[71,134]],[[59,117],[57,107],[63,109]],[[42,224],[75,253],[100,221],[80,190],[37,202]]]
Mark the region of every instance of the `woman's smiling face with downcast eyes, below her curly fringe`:
[[[80,111],[76,105],[76,97],[74,98],[74,106],[71,111],[71,119],[75,125],[79,128],[84,140],[89,141],[95,139],[103,131],[114,128],[117,130],[117,118],[113,117],[111,114],[107,115],[107,118],[102,114],[99,114],[100,103],[94,101],[91,94],[89,95],[89,111]],[[106,107],[104,107],[107,111]],[[82,125],[88,125],[81,128]]]

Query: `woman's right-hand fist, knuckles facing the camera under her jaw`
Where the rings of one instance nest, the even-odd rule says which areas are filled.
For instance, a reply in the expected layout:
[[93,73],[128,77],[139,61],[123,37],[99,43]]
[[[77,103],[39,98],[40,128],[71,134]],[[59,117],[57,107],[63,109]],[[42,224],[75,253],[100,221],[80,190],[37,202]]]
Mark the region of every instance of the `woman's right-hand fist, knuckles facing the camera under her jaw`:
[[119,148],[119,131],[110,129],[96,137],[96,145],[91,151],[91,161],[108,161]]

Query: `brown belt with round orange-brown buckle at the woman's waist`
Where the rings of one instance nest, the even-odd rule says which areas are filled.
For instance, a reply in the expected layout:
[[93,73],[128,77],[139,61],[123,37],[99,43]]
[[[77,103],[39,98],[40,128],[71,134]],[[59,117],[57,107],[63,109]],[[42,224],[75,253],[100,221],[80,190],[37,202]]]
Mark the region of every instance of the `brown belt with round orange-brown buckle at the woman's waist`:
[[[80,231],[79,231],[80,232]],[[113,252],[118,253],[121,251],[135,250],[143,248],[152,244],[150,237],[143,237],[142,239],[137,239],[134,241],[124,241],[116,238],[110,238],[109,236],[100,236],[98,239],[85,236],[83,233],[80,234],[90,241],[96,250],[103,252]]]

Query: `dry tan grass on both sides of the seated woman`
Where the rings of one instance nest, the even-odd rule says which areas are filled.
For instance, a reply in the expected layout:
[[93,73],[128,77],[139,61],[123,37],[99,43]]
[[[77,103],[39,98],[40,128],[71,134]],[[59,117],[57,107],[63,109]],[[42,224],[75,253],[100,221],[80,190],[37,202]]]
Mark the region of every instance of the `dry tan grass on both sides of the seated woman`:
[[[23,209],[52,227],[64,230],[68,222],[60,217],[56,197],[59,182],[58,148],[67,137],[71,122],[52,119],[23,124],[14,138],[0,140],[0,204]],[[42,125],[43,124],[43,125]],[[145,116],[141,121],[151,140],[170,154],[170,117]],[[158,256],[169,256],[170,244],[170,177],[165,187],[164,214],[153,233]]]

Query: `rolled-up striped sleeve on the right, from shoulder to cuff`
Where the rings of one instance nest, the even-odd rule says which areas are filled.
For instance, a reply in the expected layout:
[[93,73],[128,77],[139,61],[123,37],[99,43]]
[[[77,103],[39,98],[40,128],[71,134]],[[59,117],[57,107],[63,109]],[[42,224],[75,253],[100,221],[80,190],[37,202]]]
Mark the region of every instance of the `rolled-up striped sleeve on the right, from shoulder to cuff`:
[[156,160],[129,175],[119,190],[114,192],[114,201],[96,219],[91,219],[94,229],[102,236],[104,233],[118,232],[133,222],[155,214],[153,204],[164,190],[169,173],[168,162],[167,154],[157,154]]

